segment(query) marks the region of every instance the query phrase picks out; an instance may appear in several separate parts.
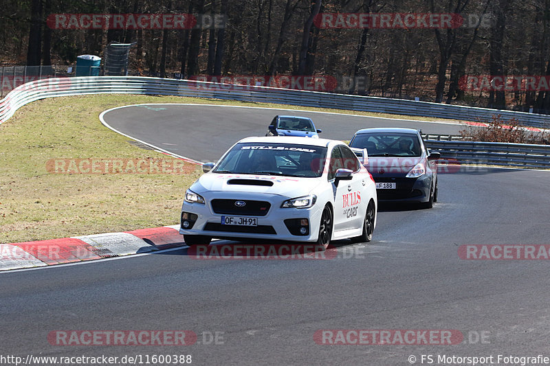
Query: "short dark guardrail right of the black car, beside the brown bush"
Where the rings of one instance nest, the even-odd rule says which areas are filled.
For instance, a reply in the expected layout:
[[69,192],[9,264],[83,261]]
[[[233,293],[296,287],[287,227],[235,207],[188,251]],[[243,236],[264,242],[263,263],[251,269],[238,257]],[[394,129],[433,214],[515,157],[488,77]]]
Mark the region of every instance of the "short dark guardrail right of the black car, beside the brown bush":
[[550,168],[549,145],[437,140],[425,142],[430,150],[441,152],[441,158],[448,162]]

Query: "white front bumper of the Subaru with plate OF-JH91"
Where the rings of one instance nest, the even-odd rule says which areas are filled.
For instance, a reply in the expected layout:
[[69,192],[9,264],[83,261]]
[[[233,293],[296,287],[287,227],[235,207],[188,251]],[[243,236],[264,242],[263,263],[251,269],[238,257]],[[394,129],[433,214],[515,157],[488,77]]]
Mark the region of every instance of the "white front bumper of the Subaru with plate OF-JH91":
[[[205,196],[204,204],[187,203],[181,207],[181,213],[193,216],[192,227],[184,228],[180,222],[179,233],[184,235],[209,236],[211,238],[221,239],[261,239],[261,240],[289,240],[294,242],[316,241],[319,232],[321,217],[321,208],[319,202],[306,209],[281,208],[281,204],[288,197],[275,194],[248,194],[248,193],[228,193],[228,192],[208,192]],[[232,212],[222,214],[214,212],[212,207],[213,199],[233,200],[233,201],[266,201],[270,203],[267,214],[246,215]],[[196,217],[195,217],[196,216]],[[222,216],[238,216],[247,218],[256,218],[257,226],[240,225],[222,225]],[[294,219],[294,220],[293,220]],[[296,222],[300,219],[308,220],[308,230],[305,235],[297,231]],[[181,220],[184,221],[184,220]]]

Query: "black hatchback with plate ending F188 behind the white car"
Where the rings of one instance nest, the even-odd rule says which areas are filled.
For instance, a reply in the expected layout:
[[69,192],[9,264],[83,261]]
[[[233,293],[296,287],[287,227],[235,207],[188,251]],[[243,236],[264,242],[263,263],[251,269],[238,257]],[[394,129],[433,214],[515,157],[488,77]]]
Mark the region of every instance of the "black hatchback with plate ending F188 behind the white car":
[[364,128],[351,139],[352,148],[366,148],[367,170],[376,182],[378,201],[420,203],[430,208],[437,201],[439,152],[426,148],[412,128]]

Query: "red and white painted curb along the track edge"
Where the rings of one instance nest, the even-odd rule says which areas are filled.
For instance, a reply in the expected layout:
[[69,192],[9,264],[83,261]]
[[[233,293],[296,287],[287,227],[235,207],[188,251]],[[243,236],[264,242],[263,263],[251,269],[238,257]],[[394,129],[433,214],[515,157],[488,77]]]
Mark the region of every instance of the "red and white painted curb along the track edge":
[[185,245],[179,225],[0,244],[0,271],[149,253]]

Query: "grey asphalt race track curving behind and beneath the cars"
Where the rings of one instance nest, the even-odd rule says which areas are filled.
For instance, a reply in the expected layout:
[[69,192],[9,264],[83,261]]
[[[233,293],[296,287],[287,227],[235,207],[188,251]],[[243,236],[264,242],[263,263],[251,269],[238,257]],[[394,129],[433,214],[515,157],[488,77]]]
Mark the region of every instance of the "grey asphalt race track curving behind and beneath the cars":
[[[123,133],[207,161],[236,139],[265,134],[276,114],[162,108],[120,108],[104,117]],[[393,125],[336,115],[314,121],[323,137],[337,139]],[[461,128],[421,125],[426,133]],[[549,174],[482,167],[441,174],[433,209],[382,206],[372,242],[336,242],[326,260],[208,260],[183,248],[1,273],[0,354],[190,354],[195,365],[411,365],[409,356],[421,365],[421,355],[494,356],[498,365],[499,354],[550,356],[548,261],[459,256],[466,244],[550,244]],[[47,339],[56,330],[191,330],[198,340],[62,346]],[[314,339],[318,330],[456,330],[464,341],[323,345]]]

